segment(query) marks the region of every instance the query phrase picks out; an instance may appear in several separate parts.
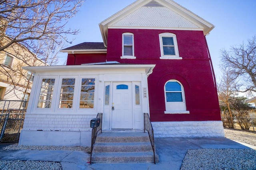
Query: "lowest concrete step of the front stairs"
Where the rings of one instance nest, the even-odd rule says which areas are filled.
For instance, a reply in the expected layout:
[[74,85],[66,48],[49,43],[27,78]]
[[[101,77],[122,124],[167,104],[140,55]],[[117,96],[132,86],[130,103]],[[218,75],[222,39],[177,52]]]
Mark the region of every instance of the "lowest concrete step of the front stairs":
[[152,163],[153,161],[153,152],[105,152],[92,154],[93,163]]

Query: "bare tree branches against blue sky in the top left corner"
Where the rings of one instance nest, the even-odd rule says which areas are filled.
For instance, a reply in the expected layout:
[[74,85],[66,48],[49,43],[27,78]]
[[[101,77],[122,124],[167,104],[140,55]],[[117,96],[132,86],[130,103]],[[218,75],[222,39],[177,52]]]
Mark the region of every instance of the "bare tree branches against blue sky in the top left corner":
[[[0,51],[20,43],[38,52],[36,40],[68,42],[67,34],[78,30],[66,29],[69,18],[77,13],[83,0],[0,0]],[[3,34],[4,32],[4,34]],[[11,41],[7,40],[8,38]],[[33,51],[35,50],[35,51]]]

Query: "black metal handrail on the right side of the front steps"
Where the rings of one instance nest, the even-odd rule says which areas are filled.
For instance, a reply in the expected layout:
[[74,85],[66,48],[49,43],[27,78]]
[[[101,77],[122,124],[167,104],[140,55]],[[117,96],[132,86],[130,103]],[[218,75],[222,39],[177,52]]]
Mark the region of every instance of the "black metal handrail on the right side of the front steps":
[[152,150],[153,150],[153,153],[154,153],[154,164],[156,164],[154,130],[153,130],[152,124],[150,122],[150,118],[149,118],[148,113],[144,113],[144,132],[146,132],[145,130],[148,131],[148,136],[149,136],[151,146],[152,146]]

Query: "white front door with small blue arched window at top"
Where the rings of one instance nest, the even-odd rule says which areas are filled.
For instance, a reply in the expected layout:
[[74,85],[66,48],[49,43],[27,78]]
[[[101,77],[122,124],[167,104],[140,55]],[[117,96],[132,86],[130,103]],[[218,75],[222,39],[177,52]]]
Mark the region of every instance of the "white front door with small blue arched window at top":
[[133,128],[132,82],[113,82],[112,128]]

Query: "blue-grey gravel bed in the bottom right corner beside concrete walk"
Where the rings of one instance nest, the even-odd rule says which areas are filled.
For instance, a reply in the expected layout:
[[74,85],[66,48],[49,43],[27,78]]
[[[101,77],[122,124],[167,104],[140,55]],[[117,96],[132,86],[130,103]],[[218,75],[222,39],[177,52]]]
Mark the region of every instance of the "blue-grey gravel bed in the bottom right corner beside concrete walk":
[[180,170],[256,170],[256,150],[188,150]]

